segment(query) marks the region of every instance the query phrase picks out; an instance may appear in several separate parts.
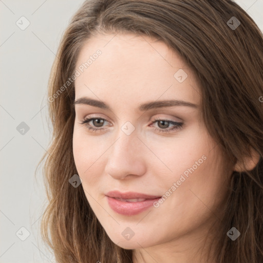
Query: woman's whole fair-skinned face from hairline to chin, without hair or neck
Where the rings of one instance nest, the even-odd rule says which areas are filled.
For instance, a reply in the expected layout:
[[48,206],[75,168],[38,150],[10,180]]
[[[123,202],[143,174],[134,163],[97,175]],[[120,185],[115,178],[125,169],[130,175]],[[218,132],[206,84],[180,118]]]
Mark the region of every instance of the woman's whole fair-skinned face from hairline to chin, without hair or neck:
[[109,238],[136,249],[206,233],[232,170],[203,124],[190,68],[149,37],[100,34],[76,70],[74,162]]

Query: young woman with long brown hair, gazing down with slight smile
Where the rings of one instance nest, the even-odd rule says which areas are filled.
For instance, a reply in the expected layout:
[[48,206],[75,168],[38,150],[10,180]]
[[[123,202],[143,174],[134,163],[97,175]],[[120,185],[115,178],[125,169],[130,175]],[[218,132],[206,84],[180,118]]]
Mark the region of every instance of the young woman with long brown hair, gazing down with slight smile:
[[90,0],[58,57],[42,158],[57,262],[263,262],[252,18],[230,0]]

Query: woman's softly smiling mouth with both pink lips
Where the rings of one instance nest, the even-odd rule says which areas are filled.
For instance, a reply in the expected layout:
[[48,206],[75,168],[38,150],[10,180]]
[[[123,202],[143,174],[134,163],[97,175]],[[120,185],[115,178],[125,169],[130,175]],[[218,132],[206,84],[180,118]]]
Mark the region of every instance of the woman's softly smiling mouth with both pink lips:
[[111,191],[106,194],[110,208],[121,215],[132,216],[151,208],[161,196],[146,195],[134,192],[120,193]]

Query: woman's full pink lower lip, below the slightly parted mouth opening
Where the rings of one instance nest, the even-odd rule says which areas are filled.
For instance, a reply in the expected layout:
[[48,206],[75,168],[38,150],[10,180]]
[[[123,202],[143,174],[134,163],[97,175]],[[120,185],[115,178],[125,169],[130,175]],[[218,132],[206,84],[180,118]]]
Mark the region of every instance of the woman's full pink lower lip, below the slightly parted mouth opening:
[[137,215],[151,206],[153,206],[154,202],[158,201],[161,197],[155,199],[146,199],[141,202],[125,202],[121,200],[117,200],[112,197],[106,196],[108,199],[108,204],[110,208],[118,214],[132,216]]

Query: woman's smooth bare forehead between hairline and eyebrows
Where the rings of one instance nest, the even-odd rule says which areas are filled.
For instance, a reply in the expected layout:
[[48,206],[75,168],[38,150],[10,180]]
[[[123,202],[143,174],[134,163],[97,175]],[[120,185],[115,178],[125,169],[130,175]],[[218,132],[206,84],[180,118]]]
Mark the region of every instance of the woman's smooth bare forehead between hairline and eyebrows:
[[92,36],[80,50],[76,70],[76,98],[121,98],[126,105],[158,98],[200,101],[192,70],[176,52],[148,36]]

